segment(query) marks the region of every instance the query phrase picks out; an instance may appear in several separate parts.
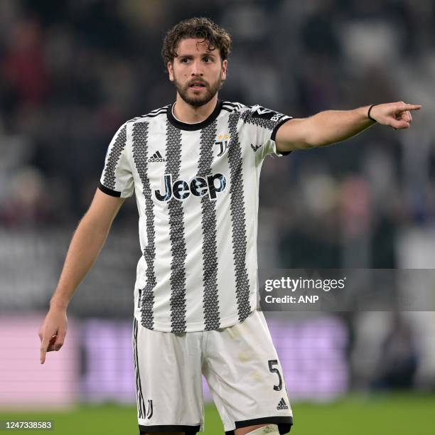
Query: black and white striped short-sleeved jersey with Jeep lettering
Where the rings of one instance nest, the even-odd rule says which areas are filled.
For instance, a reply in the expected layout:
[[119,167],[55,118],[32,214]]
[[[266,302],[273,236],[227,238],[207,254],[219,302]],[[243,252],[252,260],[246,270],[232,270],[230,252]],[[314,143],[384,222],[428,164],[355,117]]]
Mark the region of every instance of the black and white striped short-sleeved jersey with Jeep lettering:
[[219,101],[197,124],[180,122],[169,104],[119,128],[100,189],[136,194],[134,315],[144,327],[224,328],[257,308],[259,173],[288,119]]

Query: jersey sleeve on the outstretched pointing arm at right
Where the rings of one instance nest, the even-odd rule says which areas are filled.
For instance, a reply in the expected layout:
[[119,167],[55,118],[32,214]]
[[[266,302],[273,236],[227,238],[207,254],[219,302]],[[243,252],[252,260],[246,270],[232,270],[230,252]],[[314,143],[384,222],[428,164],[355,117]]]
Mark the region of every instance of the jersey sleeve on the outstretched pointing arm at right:
[[[282,124],[289,121],[291,117],[275,112],[271,109],[266,109],[258,104],[253,106],[249,111],[245,112],[242,116],[245,124],[249,125],[251,130],[253,148],[258,147],[256,152],[257,161],[262,161],[266,156],[274,154],[275,156],[284,156],[289,153],[282,153],[276,151],[275,136],[276,131]],[[254,131],[252,128],[254,127]]]

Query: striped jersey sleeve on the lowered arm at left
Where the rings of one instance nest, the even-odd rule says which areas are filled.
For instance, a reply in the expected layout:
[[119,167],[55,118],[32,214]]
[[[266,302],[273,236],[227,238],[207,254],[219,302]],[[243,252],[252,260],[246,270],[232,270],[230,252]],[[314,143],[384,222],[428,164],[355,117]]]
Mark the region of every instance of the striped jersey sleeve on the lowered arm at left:
[[99,185],[104,193],[121,198],[131,196],[134,190],[127,124],[119,127],[109,144]]

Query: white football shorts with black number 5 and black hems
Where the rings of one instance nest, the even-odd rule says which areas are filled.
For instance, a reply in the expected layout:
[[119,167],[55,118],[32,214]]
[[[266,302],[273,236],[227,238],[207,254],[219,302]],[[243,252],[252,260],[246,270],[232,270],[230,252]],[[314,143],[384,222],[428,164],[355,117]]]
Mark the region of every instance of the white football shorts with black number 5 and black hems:
[[134,368],[139,433],[204,431],[202,377],[226,434],[252,424],[293,424],[289,397],[266,320],[215,331],[151,331],[134,318]]

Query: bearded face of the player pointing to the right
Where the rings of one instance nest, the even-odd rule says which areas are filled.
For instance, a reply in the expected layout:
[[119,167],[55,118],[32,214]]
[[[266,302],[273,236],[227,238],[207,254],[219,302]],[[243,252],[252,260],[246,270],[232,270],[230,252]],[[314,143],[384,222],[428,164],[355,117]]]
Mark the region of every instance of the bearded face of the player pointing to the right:
[[227,77],[227,60],[222,61],[219,50],[207,47],[200,38],[182,39],[178,56],[168,63],[169,80],[181,98],[194,107],[212,100]]

